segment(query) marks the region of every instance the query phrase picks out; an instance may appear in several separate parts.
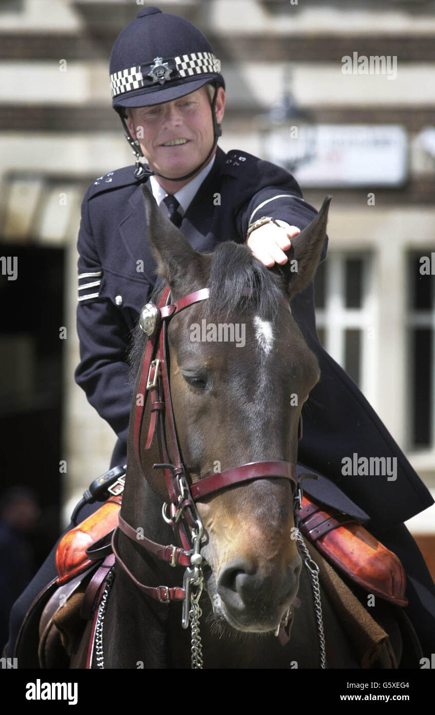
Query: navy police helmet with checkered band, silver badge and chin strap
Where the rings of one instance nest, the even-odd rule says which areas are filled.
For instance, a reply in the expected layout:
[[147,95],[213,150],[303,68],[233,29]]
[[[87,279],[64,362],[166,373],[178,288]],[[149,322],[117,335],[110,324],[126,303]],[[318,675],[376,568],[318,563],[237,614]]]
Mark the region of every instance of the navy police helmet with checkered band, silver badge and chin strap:
[[136,155],[136,178],[145,179],[157,172],[146,169],[139,161],[143,154],[126,125],[125,107],[171,102],[195,92],[204,84],[214,85],[211,101],[214,144],[208,156],[184,177],[163,178],[181,181],[196,174],[208,161],[221,136],[215,106],[218,88],[225,89],[221,61],[214,56],[206,36],[178,15],[162,12],[157,7],[144,7],[116,38],[109,64],[112,106],[121,117],[126,139]]

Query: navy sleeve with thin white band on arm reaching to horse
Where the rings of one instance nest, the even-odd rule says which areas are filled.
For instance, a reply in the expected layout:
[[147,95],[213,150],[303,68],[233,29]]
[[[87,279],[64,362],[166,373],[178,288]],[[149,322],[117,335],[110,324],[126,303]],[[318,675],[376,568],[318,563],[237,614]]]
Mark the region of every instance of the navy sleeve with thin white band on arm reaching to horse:
[[[254,179],[259,190],[244,204],[238,217],[239,230],[245,241],[249,224],[262,216],[286,221],[301,230],[316,217],[316,209],[305,201],[298,182],[285,169],[259,160],[254,169]],[[326,236],[320,262],[326,258],[327,247]]]

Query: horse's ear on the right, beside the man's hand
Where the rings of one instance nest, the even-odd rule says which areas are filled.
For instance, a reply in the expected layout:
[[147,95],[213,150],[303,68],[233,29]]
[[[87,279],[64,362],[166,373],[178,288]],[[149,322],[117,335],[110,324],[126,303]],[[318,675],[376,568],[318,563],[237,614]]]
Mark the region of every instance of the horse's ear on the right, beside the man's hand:
[[326,239],[326,223],[331,198],[326,196],[317,216],[291,239],[291,247],[286,251],[287,262],[284,265],[274,266],[281,275],[284,275],[289,300],[302,292],[314,278]]

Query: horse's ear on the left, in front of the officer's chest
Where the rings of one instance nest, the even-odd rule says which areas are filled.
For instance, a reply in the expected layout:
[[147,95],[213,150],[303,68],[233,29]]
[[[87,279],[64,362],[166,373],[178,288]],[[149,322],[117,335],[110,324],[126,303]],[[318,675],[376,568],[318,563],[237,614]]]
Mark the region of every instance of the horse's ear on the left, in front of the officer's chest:
[[149,188],[142,184],[141,189],[144,194],[149,245],[157,264],[157,272],[164,277],[174,292],[183,295],[199,273],[200,255],[161,212]]

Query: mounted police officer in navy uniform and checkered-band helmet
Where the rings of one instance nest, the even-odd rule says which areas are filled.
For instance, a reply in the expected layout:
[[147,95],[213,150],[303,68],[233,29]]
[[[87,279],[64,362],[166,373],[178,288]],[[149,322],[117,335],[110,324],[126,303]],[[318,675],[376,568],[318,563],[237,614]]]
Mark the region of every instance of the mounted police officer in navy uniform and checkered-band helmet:
[[[210,252],[219,241],[246,242],[269,267],[286,262],[291,237],[316,211],[284,169],[239,150],[225,154],[217,146],[224,78],[206,37],[188,21],[156,7],[141,9],[115,41],[110,78],[112,104],[136,164],[99,177],[84,196],[76,382],[118,435],[113,466],[126,462],[133,390],[126,359],[130,334],[159,282],[141,184],[194,249]],[[327,238],[321,260],[326,247]],[[304,408],[297,467],[315,471],[319,480],[306,480],[304,490],[367,523],[401,558],[407,573],[406,612],[430,656],[435,586],[403,522],[430,506],[431,495],[356,385],[319,344],[312,284],[294,298],[291,310],[321,368],[321,380]],[[353,453],[395,457],[396,480],[344,477],[341,460]],[[82,508],[79,521],[98,506]],[[13,655],[29,604],[56,575],[54,553],[55,548],[14,606],[8,655]]]

